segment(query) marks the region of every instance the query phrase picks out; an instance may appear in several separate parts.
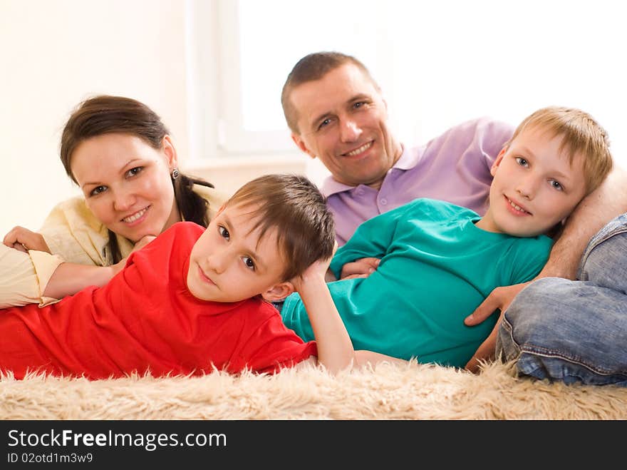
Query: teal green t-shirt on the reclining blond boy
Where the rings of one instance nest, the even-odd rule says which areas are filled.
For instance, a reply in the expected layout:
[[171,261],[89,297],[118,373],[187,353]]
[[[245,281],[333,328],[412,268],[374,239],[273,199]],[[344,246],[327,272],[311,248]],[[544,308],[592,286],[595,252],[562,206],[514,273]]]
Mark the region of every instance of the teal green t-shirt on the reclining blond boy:
[[[514,237],[477,228],[480,216],[440,200],[416,199],[361,224],[339,248],[331,270],[378,257],[366,278],[329,282],[355,349],[401,359],[464,367],[498,320],[468,327],[464,319],[495,287],[532,280],[549,257],[544,235]],[[299,295],[281,317],[306,341],[314,339]]]

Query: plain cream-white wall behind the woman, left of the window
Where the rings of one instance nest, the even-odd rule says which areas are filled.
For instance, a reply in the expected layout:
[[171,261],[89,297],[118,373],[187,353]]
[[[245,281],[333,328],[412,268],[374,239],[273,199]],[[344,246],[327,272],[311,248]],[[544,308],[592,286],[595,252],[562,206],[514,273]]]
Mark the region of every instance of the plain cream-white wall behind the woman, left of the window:
[[0,234],[38,228],[54,203],[78,194],[58,143],[88,96],[149,104],[167,117],[185,155],[184,26],[177,0],[0,0]]

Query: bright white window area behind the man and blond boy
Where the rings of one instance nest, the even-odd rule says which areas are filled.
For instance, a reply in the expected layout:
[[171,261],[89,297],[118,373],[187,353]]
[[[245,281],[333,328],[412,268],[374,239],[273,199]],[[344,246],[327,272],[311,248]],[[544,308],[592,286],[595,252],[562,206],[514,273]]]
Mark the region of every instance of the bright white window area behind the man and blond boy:
[[226,153],[294,151],[281,87],[306,53],[337,50],[371,69],[408,145],[478,116],[516,124],[537,108],[574,106],[598,119],[627,162],[627,41],[615,2],[217,1]]

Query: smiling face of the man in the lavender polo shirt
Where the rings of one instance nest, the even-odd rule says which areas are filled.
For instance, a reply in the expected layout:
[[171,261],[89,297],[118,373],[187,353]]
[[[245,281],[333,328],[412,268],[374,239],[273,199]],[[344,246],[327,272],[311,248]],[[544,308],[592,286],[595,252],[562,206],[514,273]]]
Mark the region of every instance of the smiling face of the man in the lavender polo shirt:
[[347,63],[290,93],[299,133],[296,145],[320,158],[346,185],[380,188],[403,148],[388,129],[380,91],[360,68]]

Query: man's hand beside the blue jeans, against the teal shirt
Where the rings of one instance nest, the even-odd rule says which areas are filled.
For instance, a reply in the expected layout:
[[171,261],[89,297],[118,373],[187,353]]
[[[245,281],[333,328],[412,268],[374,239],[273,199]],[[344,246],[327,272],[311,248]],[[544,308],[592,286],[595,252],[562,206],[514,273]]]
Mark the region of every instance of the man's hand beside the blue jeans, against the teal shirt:
[[479,325],[481,322],[490,317],[492,313],[494,313],[494,310],[501,311],[499,320],[497,320],[497,324],[494,325],[494,329],[492,329],[489,337],[482,342],[479,349],[477,349],[477,352],[475,352],[475,355],[467,362],[465,367],[467,370],[470,370],[470,372],[478,372],[480,360],[494,359],[494,352],[497,346],[497,333],[499,331],[499,325],[501,325],[503,312],[507,310],[507,307],[509,307],[509,304],[512,303],[512,300],[514,300],[514,297],[516,297],[518,292],[523,290],[529,282],[497,287],[490,292],[490,295],[488,295],[483,302],[481,302],[479,307],[475,309],[475,312],[472,312],[472,314],[468,315],[464,319],[465,325]]

